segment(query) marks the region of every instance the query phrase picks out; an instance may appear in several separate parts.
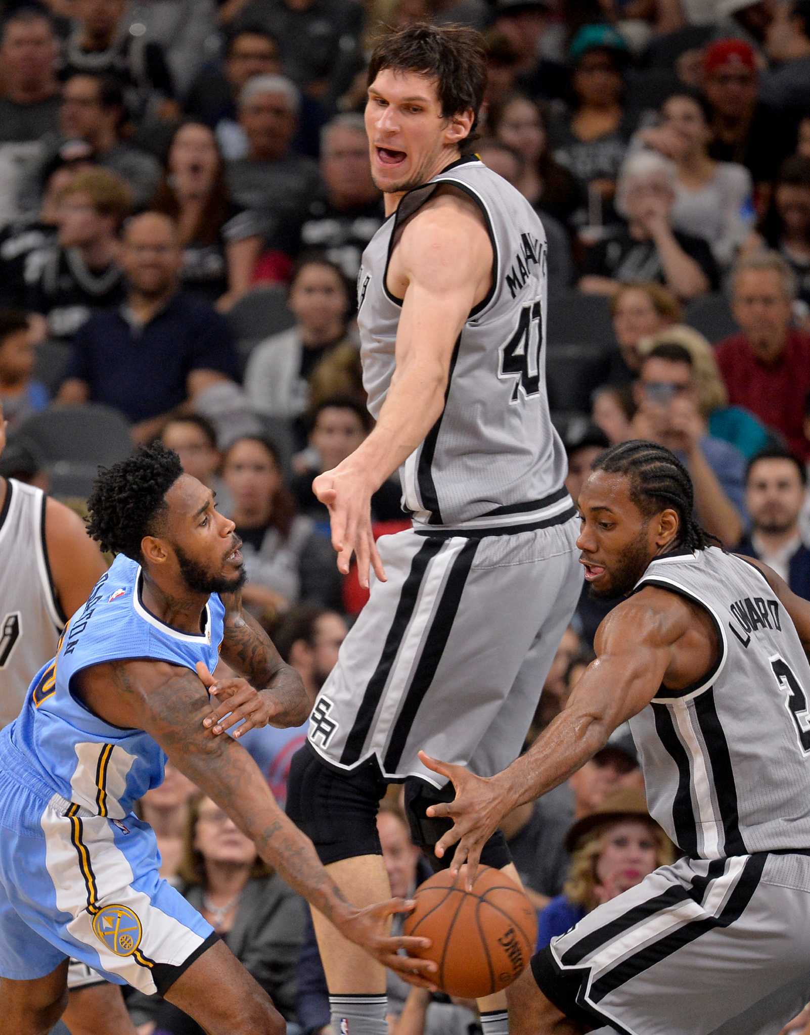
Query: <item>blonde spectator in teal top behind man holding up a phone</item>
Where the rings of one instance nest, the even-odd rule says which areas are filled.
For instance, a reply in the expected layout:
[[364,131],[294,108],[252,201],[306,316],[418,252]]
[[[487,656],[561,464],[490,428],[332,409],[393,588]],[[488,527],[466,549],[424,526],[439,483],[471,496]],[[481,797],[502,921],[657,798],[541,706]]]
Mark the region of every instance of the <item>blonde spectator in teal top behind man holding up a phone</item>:
[[708,421],[708,434],[730,442],[750,459],[773,443],[773,435],[749,410],[728,406],[728,392],[717,365],[715,350],[692,327],[675,324],[658,331],[640,344],[641,355],[648,355],[659,345],[682,346],[692,357],[692,374],[700,412]]

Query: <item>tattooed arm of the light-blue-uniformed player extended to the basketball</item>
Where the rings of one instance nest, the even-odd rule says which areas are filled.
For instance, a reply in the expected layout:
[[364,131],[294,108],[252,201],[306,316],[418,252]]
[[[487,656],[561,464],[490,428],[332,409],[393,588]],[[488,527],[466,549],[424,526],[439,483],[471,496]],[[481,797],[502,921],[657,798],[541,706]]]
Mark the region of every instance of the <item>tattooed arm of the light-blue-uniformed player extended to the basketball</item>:
[[104,693],[104,701],[90,697],[88,703],[99,706],[110,721],[124,719],[152,736],[172,763],[253,840],[261,858],[344,937],[409,980],[435,969],[397,954],[399,948],[423,947],[423,939],[386,934],[390,914],[410,907],[392,899],[371,910],[355,909],[321,865],[309,837],[279,807],[250,755],[231,737],[214,737],[204,729],[208,697],[194,673],[155,661],[114,662],[110,672],[118,692],[96,689],[95,699]]

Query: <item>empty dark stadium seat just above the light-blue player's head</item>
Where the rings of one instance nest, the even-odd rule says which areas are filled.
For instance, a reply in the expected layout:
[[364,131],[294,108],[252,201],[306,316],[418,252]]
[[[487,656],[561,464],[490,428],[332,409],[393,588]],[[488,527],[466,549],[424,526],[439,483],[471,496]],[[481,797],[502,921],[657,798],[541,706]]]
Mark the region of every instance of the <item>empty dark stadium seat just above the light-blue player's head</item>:
[[41,452],[54,496],[87,497],[99,465],[123,460],[133,449],[126,420],[98,403],[42,410],[21,424],[20,434]]

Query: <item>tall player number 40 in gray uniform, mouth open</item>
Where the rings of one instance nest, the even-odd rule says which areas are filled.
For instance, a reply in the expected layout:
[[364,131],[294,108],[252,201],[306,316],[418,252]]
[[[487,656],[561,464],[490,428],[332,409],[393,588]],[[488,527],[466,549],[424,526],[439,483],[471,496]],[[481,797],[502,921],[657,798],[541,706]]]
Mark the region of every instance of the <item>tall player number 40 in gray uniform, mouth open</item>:
[[[446,824],[443,777],[417,749],[484,775],[515,759],[581,588],[566,459],[545,379],[546,234],[526,200],[471,153],[486,84],[482,36],[413,25],[371,56],[366,127],[388,219],[357,282],[364,383],[376,426],[314,482],[338,566],[377,579],[295,756],[288,815],[353,900],[388,893],[375,816],[405,783],[414,840]],[[370,500],[399,469],[413,528],[371,532]],[[452,793],[452,789],[451,789]],[[485,860],[517,873],[502,835]],[[315,917],[331,1026],[385,1035],[382,968]],[[505,998],[482,1000],[505,1035]]]

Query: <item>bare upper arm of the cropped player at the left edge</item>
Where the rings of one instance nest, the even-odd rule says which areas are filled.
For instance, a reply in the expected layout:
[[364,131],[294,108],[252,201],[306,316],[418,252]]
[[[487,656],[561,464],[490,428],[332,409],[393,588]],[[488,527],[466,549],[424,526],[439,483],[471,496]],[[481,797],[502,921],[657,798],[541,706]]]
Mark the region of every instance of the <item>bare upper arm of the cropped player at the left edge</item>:
[[56,598],[68,619],[87,600],[107,564],[79,514],[50,498],[45,504],[45,544]]

